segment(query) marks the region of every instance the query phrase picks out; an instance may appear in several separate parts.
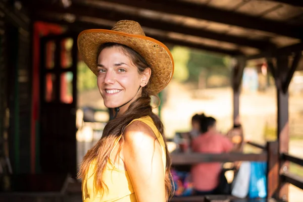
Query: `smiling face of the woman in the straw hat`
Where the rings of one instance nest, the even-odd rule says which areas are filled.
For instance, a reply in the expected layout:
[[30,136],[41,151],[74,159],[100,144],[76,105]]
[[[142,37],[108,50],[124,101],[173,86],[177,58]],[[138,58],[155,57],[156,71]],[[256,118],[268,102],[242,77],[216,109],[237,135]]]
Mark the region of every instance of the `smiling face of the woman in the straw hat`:
[[[97,85],[108,108],[120,107],[129,100],[135,100],[141,95],[139,87],[145,86],[150,77],[150,69],[146,68],[143,74],[139,74],[137,67],[119,46],[104,48],[99,54],[97,68]],[[146,74],[148,70],[149,76]]]

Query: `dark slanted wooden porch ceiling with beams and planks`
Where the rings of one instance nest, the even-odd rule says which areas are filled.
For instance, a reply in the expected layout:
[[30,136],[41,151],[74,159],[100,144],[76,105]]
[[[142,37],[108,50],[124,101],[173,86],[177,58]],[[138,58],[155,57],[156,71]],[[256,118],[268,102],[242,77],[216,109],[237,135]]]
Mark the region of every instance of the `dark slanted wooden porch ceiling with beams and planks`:
[[[302,0],[35,0],[35,20],[80,31],[111,29],[134,20],[147,36],[231,56],[250,58],[300,44]],[[67,3],[67,4],[66,4]],[[69,3],[69,4],[68,4]],[[285,49],[285,48],[284,48]]]

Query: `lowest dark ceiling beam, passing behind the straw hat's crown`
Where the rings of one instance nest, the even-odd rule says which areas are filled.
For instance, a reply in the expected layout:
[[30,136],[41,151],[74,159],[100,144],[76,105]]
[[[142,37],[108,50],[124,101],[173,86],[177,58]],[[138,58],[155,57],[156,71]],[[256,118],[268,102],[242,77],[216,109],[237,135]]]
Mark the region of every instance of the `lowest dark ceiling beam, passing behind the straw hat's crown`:
[[[56,14],[54,14],[54,15],[56,15]],[[112,28],[112,26],[109,26],[109,25],[89,23],[89,22],[83,22],[83,21],[78,21],[78,20],[76,20],[74,23],[68,23],[63,20],[48,19],[48,18],[45,18],[44,16],[40,16],[37,14],[35,15],[35,20],[66,25],[66,26],[68,26],[72,29],[76,29],[78,31],[82,31],[84,29],[111,29]],[[113,22],[113,25],[114,25],[114,23],[115,22]],[[228,50],[228,49],[223,49],[220,47],[193,43],[193,42],[189,42],[186,40],[173,39],[169,36],[150,34],[149,32],[145,32],[145,34],[146,34],[146,36],[155,38],[164,44],[187,46],[187,47],[191,47],[191,48],[200,49],[203,51],[209,51],[209,52],[230,55],[230,56],[242,55],[242,53],[237,50]]]

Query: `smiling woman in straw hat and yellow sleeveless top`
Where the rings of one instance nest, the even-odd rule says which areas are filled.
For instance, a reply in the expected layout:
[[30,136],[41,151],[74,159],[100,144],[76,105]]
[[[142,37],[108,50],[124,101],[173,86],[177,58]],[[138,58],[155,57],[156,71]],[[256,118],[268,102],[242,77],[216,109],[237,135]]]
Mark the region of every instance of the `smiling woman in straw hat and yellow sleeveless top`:
[[171,161],[150,96],[172,78],[169,49],[128,20],[112,30],[81,32],[78,47],[97,76],[105,106],[115,110],[80,166],[83,201],[167,201]]

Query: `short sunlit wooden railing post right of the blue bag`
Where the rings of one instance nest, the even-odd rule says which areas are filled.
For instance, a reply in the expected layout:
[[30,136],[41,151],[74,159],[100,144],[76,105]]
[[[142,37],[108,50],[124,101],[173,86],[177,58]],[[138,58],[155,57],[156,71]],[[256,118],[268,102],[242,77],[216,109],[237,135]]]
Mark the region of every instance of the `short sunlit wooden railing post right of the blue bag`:
[[279,142],[267,142],[267,198],[274,197],[279,185]]

